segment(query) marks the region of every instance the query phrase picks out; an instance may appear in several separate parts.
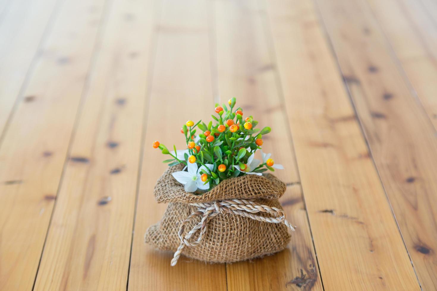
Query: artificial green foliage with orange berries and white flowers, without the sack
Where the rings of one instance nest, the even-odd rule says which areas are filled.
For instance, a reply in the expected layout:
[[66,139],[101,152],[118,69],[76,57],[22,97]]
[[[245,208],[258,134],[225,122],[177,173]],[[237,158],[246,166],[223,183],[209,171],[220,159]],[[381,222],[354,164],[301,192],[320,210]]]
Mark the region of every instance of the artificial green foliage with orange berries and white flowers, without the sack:
[[[261,146],[263,135],[271,131],[270,127],[262,130],[255,128],[258,125],[252,116],[243,121],[243,111],[238,107],[234,111],[236,99],[229,99],[229,109],[225,104],[215,104],[215,113],[212,121],[206,125],[198,121],[194,124],[188,120],[180,129],[184,134],[187,149],[169,151],[159,141],[153,142],[154,148],[159,148],[163,154],[172,158],[163,161],[170,166],[184,164],[187,171],[177,171],[173,177],[185,185],[186,192],[196,190],[211,190],[220,181],[243,175],[262,175],[262,172],[274,169],[283,169],[281,164],[275,164],[271,154],[264,154]],[[197,129],[202,133],[196,135]],[[255,159],[255,152],[261,150],[263,163]]]

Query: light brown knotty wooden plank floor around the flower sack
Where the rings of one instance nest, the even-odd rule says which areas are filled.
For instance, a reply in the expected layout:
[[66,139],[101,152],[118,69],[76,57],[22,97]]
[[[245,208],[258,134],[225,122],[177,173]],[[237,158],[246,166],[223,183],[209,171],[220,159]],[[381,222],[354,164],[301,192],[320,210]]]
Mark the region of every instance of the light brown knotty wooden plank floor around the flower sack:
[[[0,0],[0,290],[437,290],[435,0]],[[288,249],[146,245],[153,140],[236,97]]]

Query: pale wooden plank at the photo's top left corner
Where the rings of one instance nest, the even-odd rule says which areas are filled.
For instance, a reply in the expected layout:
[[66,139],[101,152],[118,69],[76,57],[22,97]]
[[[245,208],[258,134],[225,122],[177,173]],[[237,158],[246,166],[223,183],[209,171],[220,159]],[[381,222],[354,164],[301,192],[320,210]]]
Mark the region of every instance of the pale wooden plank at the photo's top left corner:
[[0,7],[0,137],[25,85],[32,61],[37,57],[42,38],[48,34],[57,2],[11,1],[4,15]]

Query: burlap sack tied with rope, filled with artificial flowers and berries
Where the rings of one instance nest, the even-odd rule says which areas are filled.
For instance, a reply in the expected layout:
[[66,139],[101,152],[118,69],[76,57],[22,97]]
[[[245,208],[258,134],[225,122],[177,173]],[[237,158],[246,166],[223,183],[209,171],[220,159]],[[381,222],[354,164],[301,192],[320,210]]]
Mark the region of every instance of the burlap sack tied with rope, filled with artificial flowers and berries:
[[[173,251],[172,266],[183,250],[187,257],[211,263],[270,255],[287,246],[287,229],[295,230],[278,201],[286,185],[264,173],[284,168],[261,150],[271,128],[256,128],[253,116],[243,120],[243,109],[234,109],[235,98],[228,104],[229,108],[215,105],[215,124],[184,124],[180,132],[187,149],[173,145],[174,151],[169,151],[153,142],[171,157],[163,161],[170,167],[154,190],[157,202],[169,205],[163,219],[147,229],[145,240]],[[262,163],[255,159],[258,150]]]

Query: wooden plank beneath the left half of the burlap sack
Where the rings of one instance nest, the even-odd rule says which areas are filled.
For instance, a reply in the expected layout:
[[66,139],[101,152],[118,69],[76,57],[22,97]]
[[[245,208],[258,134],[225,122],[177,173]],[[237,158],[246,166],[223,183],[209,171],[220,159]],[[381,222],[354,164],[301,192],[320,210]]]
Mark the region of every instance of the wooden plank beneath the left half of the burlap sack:
[[226,290],[224,264],[205,264],[144,244],[146,229],[157,223],[166,205],[153,197],[166,157],[152,147],[159,140],[169,148],[185,147],[180,128],[188,120],[211,119],[214,103],[209,64],[207,7],[200,0],[163,1],[156,27],[158,43],[148,106],[146,147],[142,162],[135,220],[129,290]]

